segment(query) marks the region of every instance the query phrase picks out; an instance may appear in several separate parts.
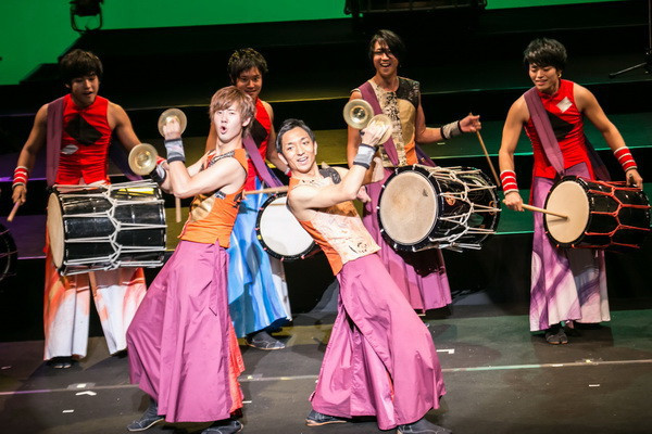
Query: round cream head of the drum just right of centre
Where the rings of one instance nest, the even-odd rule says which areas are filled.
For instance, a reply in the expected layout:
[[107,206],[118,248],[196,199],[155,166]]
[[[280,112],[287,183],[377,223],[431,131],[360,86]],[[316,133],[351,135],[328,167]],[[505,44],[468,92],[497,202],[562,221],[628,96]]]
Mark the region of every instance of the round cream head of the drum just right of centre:
[[387,180],[381,194],[378,217],[391,240],[414,245],[432,232],[439,201],[427,175],[421,170],[398,173]]

